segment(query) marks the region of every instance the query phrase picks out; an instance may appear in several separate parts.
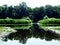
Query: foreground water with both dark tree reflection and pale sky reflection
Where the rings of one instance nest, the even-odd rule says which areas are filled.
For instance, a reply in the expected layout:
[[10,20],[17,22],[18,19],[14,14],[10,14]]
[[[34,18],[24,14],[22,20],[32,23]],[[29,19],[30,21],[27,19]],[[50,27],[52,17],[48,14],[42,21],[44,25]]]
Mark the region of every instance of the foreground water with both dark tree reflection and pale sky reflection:
[[60,34],[45,31],[33,24],[29,29],[15,29],[0,40],[0,45],[60,45]]

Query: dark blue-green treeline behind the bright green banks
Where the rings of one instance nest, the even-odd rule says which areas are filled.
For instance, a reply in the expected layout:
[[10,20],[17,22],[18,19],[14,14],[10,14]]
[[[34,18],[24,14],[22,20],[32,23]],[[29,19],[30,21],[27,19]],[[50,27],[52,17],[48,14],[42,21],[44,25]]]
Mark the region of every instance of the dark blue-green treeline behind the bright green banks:
[[7,17],[13,19],[21,19],[23,17],[29,17],[33,22],[37,22],[48,16],[49,18],[60,18],[60,6],[41,6],[31,8],[26,5],[25,2],[20,3],[17,6],[0,6],[0,19]]

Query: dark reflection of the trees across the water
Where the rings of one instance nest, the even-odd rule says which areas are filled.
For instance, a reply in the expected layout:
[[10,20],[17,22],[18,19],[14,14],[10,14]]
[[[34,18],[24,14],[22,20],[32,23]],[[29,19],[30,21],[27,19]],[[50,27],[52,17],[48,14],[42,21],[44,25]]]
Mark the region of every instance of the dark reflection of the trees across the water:
[[60,40],[60,35],[52,31],[45,31],[42,28],[39,28],[37,24],[33,24],[29,29],[16,29],[17,32],[11,33],[4,38],[4,41],[9,40],[19,40],[20,43],[25,44],[29,38],[40,38],[45,39],[46,41]]

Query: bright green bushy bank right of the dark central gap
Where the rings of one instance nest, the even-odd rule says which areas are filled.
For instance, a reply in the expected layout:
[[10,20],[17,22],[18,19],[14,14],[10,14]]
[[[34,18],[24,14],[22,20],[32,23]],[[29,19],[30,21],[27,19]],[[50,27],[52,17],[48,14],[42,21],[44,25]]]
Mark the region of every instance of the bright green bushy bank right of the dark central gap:
[[48,18],[38,21],[39,25],[43,26],[60,26],[60,19]]

